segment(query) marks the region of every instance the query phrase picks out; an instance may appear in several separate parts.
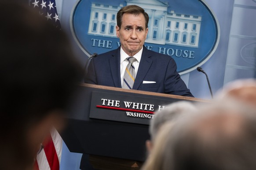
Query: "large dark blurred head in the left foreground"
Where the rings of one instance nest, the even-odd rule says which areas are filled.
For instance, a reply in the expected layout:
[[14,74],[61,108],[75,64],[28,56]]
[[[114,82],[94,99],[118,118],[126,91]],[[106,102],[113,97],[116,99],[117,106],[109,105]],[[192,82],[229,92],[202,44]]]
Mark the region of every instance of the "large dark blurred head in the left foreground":
[[0,169],[33,165],[80,80],[66,35],[38,12],[0,2]]

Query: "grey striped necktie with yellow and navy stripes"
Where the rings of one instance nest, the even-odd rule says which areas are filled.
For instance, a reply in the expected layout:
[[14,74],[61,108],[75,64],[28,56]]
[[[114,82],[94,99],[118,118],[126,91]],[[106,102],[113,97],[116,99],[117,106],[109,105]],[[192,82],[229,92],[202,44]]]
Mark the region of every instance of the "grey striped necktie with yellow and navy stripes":
[[135,68],[132,63],[136,61],[136,58],[127,57],[126,60],[128,60],[129,64],[127,64],[124,72],[123,89],[132,89],[135,80]]

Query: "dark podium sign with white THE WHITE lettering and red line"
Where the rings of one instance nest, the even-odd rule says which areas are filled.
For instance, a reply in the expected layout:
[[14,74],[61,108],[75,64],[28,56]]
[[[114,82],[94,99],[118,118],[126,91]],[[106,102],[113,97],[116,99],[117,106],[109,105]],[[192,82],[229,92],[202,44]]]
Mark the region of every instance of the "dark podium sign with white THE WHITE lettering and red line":
[[149,125],[154,112],[177,100],[93,91],[89,117]]

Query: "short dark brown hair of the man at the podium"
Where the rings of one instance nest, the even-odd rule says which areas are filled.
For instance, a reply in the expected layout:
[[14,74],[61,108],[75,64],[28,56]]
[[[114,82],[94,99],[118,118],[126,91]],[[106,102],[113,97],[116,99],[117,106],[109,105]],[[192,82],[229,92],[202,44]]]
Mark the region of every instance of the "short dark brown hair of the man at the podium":
[[137,5],[128,5],[128,6],[122,7],[117,12],[117,26],[119,28],[121,28],[122,18],[124,14],[135,14],[135,15],[143,14],[146,21],[145,23],[146,28],[148,27],[149,16],[142,7],[139,7]]

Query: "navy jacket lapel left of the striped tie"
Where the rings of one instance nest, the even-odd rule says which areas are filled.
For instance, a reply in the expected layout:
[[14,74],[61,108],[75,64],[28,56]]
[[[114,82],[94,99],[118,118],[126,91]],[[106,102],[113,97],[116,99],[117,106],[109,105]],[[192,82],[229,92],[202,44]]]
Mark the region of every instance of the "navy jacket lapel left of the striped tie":
[[110,57],[110,70],[115,87],[121,88],[120,76],[120,47]]

